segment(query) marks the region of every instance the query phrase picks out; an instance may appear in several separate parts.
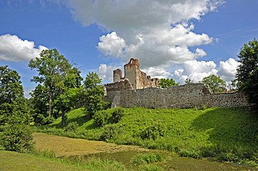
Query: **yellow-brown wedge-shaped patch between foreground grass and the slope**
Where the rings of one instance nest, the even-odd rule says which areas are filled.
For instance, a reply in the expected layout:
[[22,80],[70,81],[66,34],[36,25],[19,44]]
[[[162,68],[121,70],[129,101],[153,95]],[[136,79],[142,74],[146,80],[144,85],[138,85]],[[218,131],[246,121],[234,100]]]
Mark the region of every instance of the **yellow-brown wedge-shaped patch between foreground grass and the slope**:
[[116,145],[103,141],[52,136],[45,133],[33,133],[33,139],[36,142],[36,149],[52,151],[57,156],[115,153],[128,150],[141,152],[151,151],[150,149],[132,145]]

